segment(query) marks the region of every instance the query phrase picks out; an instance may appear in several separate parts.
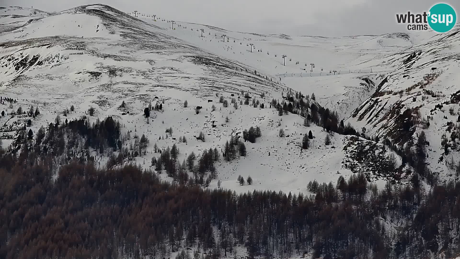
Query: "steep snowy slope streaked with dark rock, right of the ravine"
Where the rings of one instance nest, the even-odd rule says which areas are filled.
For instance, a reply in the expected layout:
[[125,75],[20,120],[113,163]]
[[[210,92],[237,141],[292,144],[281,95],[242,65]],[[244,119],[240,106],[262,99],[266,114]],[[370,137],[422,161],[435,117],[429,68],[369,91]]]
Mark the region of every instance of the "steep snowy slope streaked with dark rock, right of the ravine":
[[[387,137],[403,146],[423,130],[429,143],[429,168],[452,177],[460,160],[460,26],[449,33],[415,35],[420,44],[382,60],[388,72],[376,91],[347,120],[368,135]],[[407,109],[411,109],[410,111]],[[406,112],[404,114],[404,112]],[[445,139],[445,140],[443,140]],[[447,147],[446,147],[447,146]]]

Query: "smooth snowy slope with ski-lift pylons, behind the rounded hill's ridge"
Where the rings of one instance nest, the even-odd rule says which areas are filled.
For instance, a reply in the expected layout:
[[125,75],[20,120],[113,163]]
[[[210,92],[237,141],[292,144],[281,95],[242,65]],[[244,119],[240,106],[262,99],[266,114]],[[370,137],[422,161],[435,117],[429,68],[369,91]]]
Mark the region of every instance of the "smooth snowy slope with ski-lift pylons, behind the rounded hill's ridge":
[[[156,18],[153,21],[147,14],[138,14],[138,18],[168,29],[171,35],[211,53],[275,75],[296,91],[315,92],[319,103],[343,116],[374,92],[374,86],[363,79],[378,81],[387,72],[386,68],[378,67],[376,57],[398,53],[413,45],[407,34],[342,38],[260,35],[184,22],[175,22],[176,29],[172,30],[169,20]],[[225,41],[223,35],[226,35]]]

